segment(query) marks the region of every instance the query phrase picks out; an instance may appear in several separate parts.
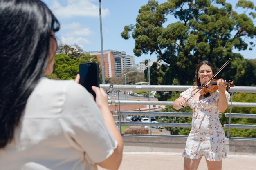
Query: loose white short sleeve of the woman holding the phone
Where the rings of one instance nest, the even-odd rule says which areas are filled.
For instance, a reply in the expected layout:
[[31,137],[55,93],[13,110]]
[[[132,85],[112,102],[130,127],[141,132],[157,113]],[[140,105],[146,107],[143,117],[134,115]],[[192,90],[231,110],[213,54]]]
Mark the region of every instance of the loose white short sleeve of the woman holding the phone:
[[117,147],[92,95],[74,81],[66,89],[60,122],[71,146],[92,164],[106,160]]

